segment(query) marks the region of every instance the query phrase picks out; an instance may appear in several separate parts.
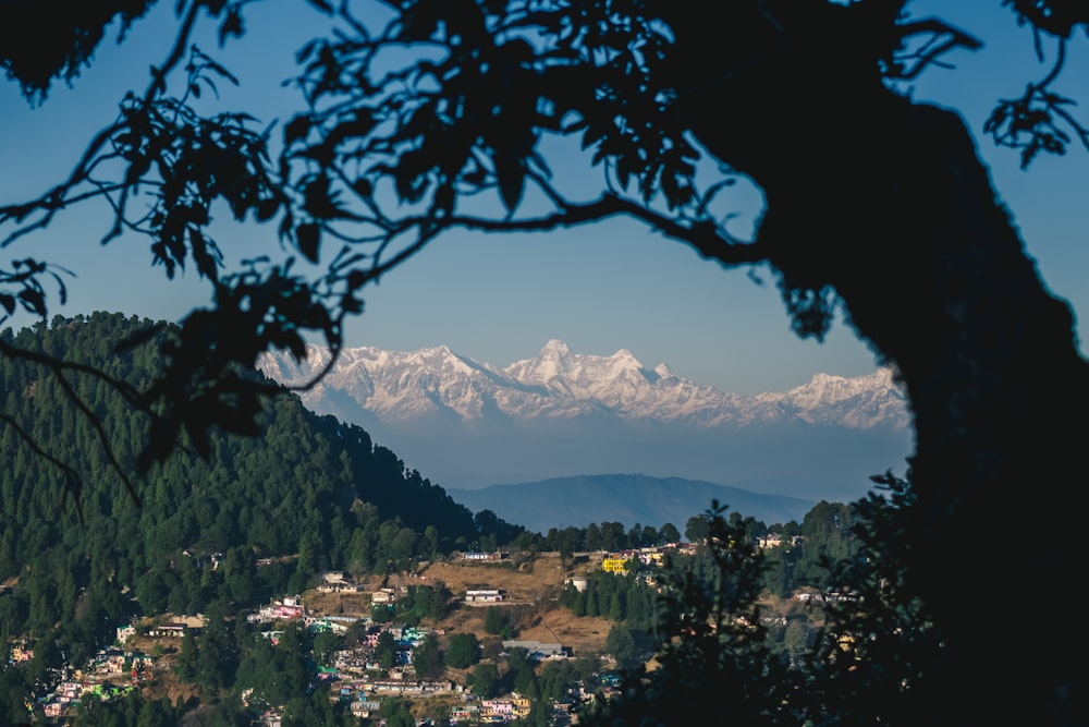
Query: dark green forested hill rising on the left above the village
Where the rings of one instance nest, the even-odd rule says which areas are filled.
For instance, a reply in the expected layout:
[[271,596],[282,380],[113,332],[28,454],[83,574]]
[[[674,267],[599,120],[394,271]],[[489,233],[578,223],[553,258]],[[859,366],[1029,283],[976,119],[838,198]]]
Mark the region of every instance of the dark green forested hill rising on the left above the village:
[[[112,342],[151,326],[96,313],[0,336],[140,386],[161,363],[158,348]],[[146,419],[101,379],[11,358],[0,367],[11,416],[0,422],[0,643],[54,634],[38,653],[60,649],[78,662],[131,614],[258,603],[301,591],[326,569],[401,570],[518,531],[474,518],[366,432],[319,417],[294,396],[268,402],[264,436],[216,434],[209,458],[182,452],[137,478]],[[79,481],[21,432],[74,463]],[[201,568],[213,555],[222,567]],[[261,558],[270,565],[255,569]]]

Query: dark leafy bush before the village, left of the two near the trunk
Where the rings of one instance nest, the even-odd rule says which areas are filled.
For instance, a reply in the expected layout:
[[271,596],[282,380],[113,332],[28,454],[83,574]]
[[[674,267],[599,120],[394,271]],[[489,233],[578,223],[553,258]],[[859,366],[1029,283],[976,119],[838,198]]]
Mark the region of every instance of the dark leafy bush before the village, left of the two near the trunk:
[[660,601],[658,668],[632,667],[631,632],[614,626],[607,647],[627,671],[617,694],[600,699],[579,724],[686,725],[694,715],[730,706],[739,725],[798,724],[788,700],[802,673],[792,671],[766,643],[756,599],[762,591],[763,562],[745,536],[714,505],[703,519],[700,546],[712,567],[666,573]]

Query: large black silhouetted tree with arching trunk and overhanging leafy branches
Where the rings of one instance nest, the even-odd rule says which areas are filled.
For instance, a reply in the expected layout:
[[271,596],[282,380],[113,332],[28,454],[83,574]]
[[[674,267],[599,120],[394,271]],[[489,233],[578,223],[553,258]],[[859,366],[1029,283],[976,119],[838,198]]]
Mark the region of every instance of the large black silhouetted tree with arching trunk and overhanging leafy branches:
[[[149,4],[49,13],[48,3],[4,3],[5,33],[33,27],[47,40],[0,44],[0,64],[40,99],[51,80],[71,80],[90,59],[108,20],[129,23]],[[939,625],[935,678],[952,702],[968,705],[964,714],[935,702],[928,719],[1085,722],[1084,669],[1068,658],[1086,651],[1080,630],[1010,649],[995,637],[1010,626],[1005,609],[968,606],[1010,573],[1050,586],[1077,572],[1077,508],[1057,508],[1039,543],[972,568],[957,561],[1000,523],[1019,521],[1020,498],[1010,493],[1025,483],[1044,499],[1067,496],[1086,424],[1055,416],[1053,402],[1073,412],[1089,403],[1070,311],[1025,254],[962,119],[904,90],[949,52],[977,47],[974,36],[939,17],[911,17],[903,0],[738,0],[715,5],[713,16],[684,2],[415,0],[383,4],[391,19],[382,27],[346,3],[310,4],[342,24],[299,54],[306,108],[283,124],[277,162],[244,117],[203,117],[194,105],[198,89],[232,76],[207,54],[185,52],[193,23],[204,13],[222,38],[241,36],[246,3],[183,1],[166,61],[90,140],[73,173],[0,207],[9,245],[72,205],[108,198],[107,240],[126,227],[146,231],[168,276],[192,263],[211,281],[213,307],[193,312],[161,343],[160,377],[136,388],[93,374],[150,422],[140,468],[179,439],[208,453],[213,425],[259,431],[259,402],[274,387],[247,376],[256,356],[270,348],[302,354],[305,331],[338,350],[364,287],[443,231],[551,230],[629,216],[722,265],[768,264],[802,336],[822,337],[842,306],[903,381],[916,434],[911,496],[898,511],[910,534],[903,592]],[[984,128],[1027,166],[1089,140],[1055,90],[1089,10],[1074,0],[1002,4],[1032,27],[1041,54],[1043,39],[1056,49],[1041,80],[1000,101]],[[420,52],[384,52],[391,48]],[[174,76],[181,92],[172,96]],[[597,193],[574,196],[550,174],[546,142],[555,137],[577,140],[603,168]],[[730,171],[705,184],[701,158]],[[717,197],[738,174],[766,199],[754,240],[726,230],[729,210]],[[149,214],[143,204],[133,209],[137,186]],[[501,211],[462,204],[481,194]],[[209,227],[216,204],[240,220],[277,221],[281,240],[326,260],[326,271],[314,280],[286,263],[221,271]],[[818,223],[829,231],[819,242]],[[330,251],[339,241],[350,242]],[[30,258],[0,270],[0,315],[22,308],[45,322],[56,272]],[[61,381],[74,371],[63,352],[30,354],[9,340],[0,355]],[[81,400],[63,387],[42,396]],[[101,433],[86,410],[79,415]],[[63,443],[47,450],[32,420],[0,416],[77,481]],[[101,439],[131,485],[130,468]]]

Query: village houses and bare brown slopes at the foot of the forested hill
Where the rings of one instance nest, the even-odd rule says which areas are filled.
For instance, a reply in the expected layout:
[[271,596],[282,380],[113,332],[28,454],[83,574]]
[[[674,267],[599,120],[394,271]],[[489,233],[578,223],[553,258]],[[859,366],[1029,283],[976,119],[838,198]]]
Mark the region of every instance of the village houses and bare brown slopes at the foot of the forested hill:
[[[776,545],[776,542],[767,542]],[[313,589],[283,595],[260,608],[240,613],[242,620],[259,630],[273,647],[285,631],[303,628],[310,635],[354,632],[359,638],[351,647],[315,658],[308,689],[329,687],[331,700],[346,702],[351,714],[360,719],[377,717],[387,700],[408,700],[417,724],[503,724],[529,716],[531,701],[516,691],[484,698],[469,683],[468,669],[443,669],[440,677],[424,678],[416,673],[415,654],[428,638],[440,649],[449,649],[454,634],[475,634],[488,658],[498,659],[514,650],[538,665],[582,658],[595,666],[592,686],[582,680],[568,686],[559,699],[549,700],[550,724],[572,722],[572,712],[592,699],[595,691],[608,694],[609,668],[605,653],[610,621],[603,617],[576,618],[558,604],[562,589],[585,587],[595,570],[623,575],[628,568],[657,568],[668,549],[689,549],[687,544],[648,547],[620,553],[577,554],[565,566],[558,554],[536,554],[514,559],[506,553],[460,553],[448,560],[424,564],[415,573],[400,573],[381,581],[357,581],[343,572],[321,575]],[[215,559],[208,567],[215,568]],[[429,625],[405,626],[396,620],[376,619],[382,607],[395,613],[399,599],[412,587],[441,586],[453,594],[443,618]],[[517,619],[512,626],[516,638],[488,634],[489,609],[503,609]],[[111,647],[101,650],[86,664],[65,665],[56,675],[56,684],[38,695],[35,706],[47,720],[62,724],[81,703],[119,699],[131,690],[147,695],[186,698],[192,687],[179,678],[186,642],[208,626],[205,616],[162,614],[124,623],[117,629]],[[392,655],[381,654],[381,643],[393,645]],[[15,644],[11,662],[34,658],[32,650]],[[244,706],[254,706],[246,702]],[[256,703],[255,703],[256,704]],[[261,724],[281,725],[278,705],[261,712]],[[377,724],[383,724],[379,722]]]

